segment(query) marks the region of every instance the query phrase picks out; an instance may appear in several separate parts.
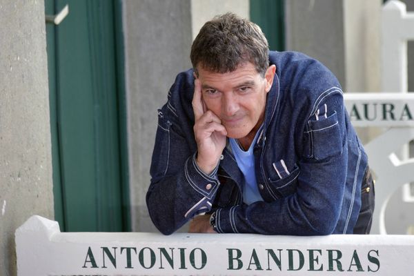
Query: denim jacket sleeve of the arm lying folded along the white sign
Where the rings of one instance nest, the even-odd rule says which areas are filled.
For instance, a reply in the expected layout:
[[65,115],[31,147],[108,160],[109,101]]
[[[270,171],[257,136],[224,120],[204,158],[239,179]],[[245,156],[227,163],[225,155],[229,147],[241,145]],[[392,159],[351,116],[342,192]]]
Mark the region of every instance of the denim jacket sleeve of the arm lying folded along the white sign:
[[346,184],[346,110],[339,88],[325,96],[315,102],[306,118],[304,134],[311,135],[312,144],[310,150],[303,153],[305,156],[298,159],[298,169],[290,175],[290,181],[297,185],[295,193],[272,202],[258,201],[249,206],[241,204],[216,210],[219,232],[268,235],[333,233],[341,213]]

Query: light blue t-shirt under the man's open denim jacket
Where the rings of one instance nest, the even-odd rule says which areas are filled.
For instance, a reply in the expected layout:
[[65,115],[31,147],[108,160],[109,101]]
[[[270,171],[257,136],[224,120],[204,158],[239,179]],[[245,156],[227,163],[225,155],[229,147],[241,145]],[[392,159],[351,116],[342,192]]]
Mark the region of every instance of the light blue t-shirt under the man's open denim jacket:
[[259,189],[257,189],[255,156],[253,155],[253,148],[256,144],[257,137],[259,137],[259,133],[262,132],[262,127],[263,126],[257,130],[255,139],[253,139],[253,142],[247,151],[244,151],[239,146],[236,139],[229,139],[230,146],[233,150],[233,155],[235,155],[237,161],[237,166],[239,166],[240,170],[242,170],[244,179],[246,180],[243,187],[243,201],[245,204],[252,204],[256,201],[263,201],[263,198],[259,193]]

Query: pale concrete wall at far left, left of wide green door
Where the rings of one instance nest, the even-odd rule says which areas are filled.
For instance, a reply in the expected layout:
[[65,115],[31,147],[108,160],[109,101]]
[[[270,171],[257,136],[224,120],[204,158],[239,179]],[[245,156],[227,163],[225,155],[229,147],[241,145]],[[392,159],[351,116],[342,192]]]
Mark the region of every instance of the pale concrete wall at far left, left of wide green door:
[[16,275],[14,230],[53,218],[43,1],[0,0],[0,275]]

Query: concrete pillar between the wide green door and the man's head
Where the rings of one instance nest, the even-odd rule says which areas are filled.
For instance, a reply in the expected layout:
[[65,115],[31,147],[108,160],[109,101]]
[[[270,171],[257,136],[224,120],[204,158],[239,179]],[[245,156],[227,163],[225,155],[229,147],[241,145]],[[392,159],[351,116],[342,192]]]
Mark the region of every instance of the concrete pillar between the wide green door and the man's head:
[[248,17],[248,0],[127,0],[123,4],[132,230],[156,231],[145,195],[157,108],[166,102],[175,76],[191,67],[191,43],[202,24],[228,11]]

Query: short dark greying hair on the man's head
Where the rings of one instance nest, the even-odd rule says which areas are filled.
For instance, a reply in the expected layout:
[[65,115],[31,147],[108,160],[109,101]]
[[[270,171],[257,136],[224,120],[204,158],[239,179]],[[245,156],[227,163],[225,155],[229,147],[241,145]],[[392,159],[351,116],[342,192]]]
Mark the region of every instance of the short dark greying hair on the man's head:
[[269,66],[268,56],[268,41],[260,27],[233,13],[206,22],[190,53],[196,73],[197,66],[225,73],[233,72],[242,63],[251,62],[262,76]]

